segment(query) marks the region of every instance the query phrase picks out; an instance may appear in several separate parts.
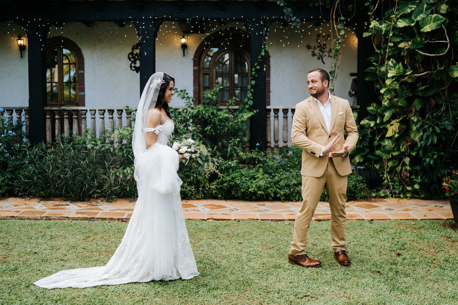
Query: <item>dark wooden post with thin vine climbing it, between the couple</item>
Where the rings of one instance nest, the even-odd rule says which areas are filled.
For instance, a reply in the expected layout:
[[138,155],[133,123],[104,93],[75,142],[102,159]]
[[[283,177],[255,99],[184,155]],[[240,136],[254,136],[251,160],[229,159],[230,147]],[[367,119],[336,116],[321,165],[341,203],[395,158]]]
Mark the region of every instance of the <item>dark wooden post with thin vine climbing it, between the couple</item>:
[[[250,34],[251,44],[251,69],[256,67],[256,62],[263,51],[267,30],[270,21],[246,21],[245,27]],[[266,56],[261,56],[259,69],[251,80],[255,80],[253,89],[253,109],[256,114],[251,117],[251,149],[256,149],[257,144],[261,149],[266,147]]]

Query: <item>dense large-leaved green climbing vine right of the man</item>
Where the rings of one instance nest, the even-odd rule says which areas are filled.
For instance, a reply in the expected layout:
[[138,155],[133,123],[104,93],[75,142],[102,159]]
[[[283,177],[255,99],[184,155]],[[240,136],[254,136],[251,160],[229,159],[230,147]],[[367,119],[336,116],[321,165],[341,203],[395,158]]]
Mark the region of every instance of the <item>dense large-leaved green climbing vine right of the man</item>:
[[[354,163],[374,166],[396,195],[439,194],[458,162],[457,1],[370,0],[377,102],[361,121]],[[375,43],[381,41],[381,43]]]

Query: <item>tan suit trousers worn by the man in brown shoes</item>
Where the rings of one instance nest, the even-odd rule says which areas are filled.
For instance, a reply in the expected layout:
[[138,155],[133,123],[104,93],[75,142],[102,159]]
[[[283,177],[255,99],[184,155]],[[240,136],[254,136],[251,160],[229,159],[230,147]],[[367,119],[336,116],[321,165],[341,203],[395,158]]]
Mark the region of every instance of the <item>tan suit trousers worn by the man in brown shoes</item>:
[[329,158],[326,170],[321,177],[302,176],[303,201],[294,222],[294,237],[289,251],[291,255],[305,254],[307,232],[325,184],[331,208],[331,246],[334,252],[347,250],[345,202],[347,201],[348,176],[340,176],[332,158]]

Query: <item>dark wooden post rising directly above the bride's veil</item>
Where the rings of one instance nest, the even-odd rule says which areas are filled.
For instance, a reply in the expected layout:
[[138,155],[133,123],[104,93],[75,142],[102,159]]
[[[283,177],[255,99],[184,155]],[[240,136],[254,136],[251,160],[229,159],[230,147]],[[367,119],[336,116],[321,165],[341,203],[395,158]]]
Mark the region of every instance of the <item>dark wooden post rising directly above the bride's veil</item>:
[[159,19],[134,22],[140,54],[140,95],[150,76],[156,72],[156,37],[161,23]]

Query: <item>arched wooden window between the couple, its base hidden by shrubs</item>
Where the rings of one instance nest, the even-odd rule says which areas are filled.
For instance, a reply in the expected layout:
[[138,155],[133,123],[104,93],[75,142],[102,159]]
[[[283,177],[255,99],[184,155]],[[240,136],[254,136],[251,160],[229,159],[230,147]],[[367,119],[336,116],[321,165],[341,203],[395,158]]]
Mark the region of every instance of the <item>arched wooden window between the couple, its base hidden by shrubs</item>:
[[243,103],[250,83],[250,43],[236,34],[214,39],[201,53],[199,63],[199,101],[203,92],[221,84],[218,104],[224,105],[236,98],[235,105]]

